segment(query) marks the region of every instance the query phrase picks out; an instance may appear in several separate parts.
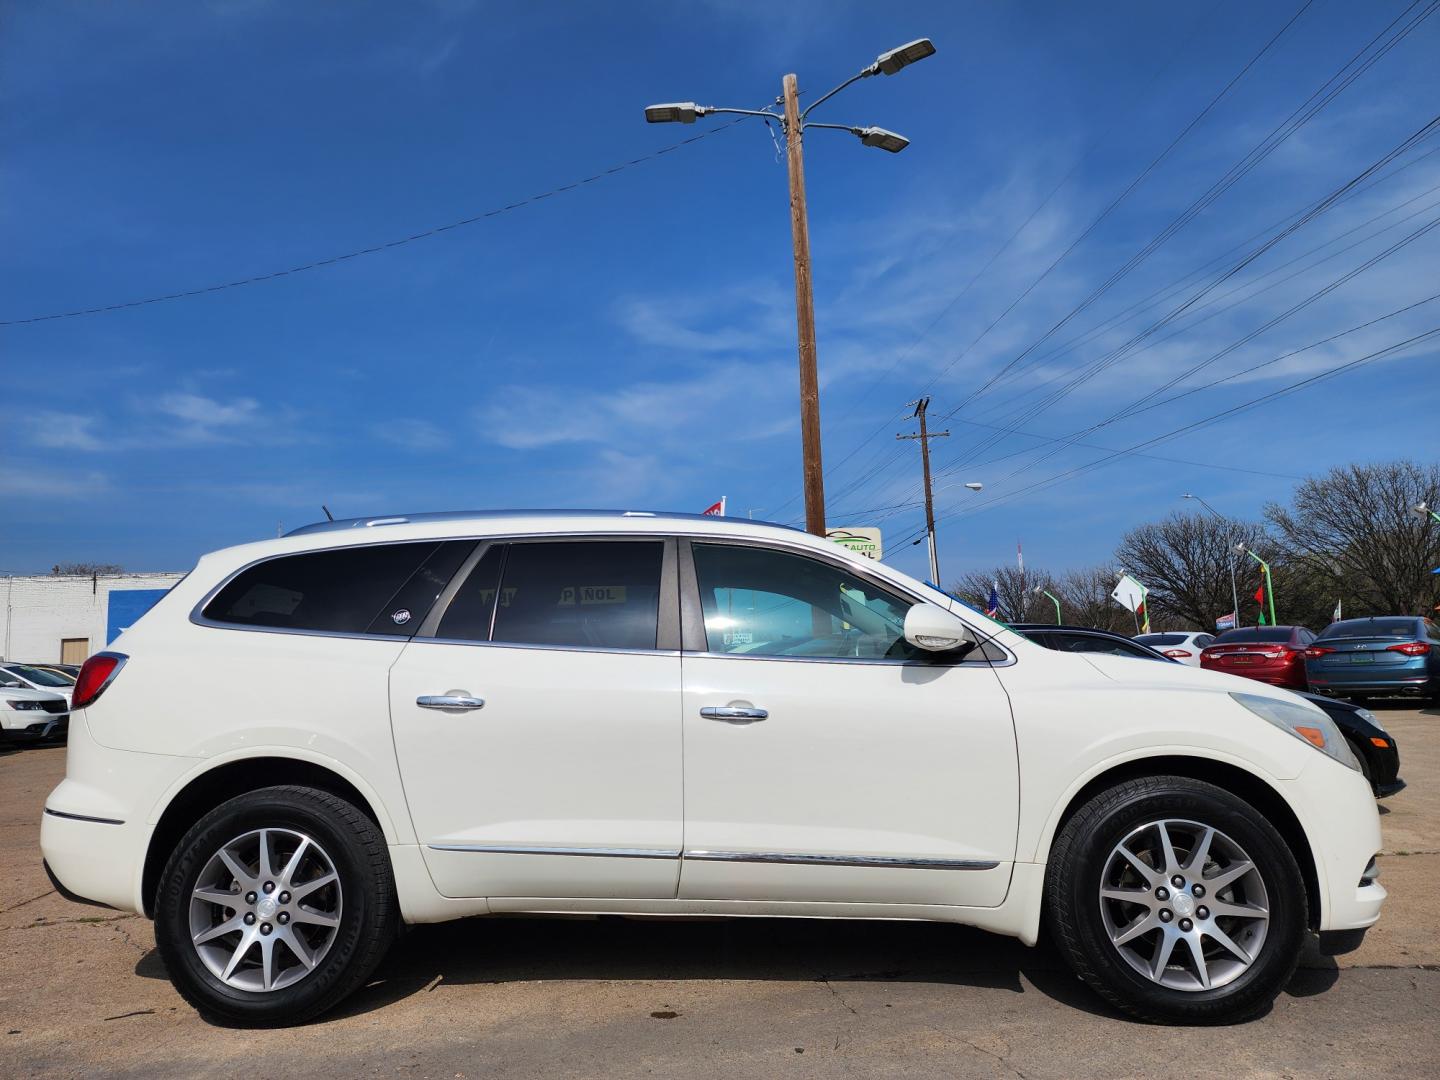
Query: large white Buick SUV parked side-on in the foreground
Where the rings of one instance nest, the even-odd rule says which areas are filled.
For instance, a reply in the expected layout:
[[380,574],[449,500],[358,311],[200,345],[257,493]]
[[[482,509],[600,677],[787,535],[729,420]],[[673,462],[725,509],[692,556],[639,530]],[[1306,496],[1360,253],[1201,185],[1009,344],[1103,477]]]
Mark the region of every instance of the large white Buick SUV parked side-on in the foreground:
[[318,1015],[400,923],[929,919],[1133,1015],[1238,1020],[1385,899],[1292,694],[1053,652],[840,546],[636,513],[310,526],[204,556],[79,677],[40,844],[229,1022]]

